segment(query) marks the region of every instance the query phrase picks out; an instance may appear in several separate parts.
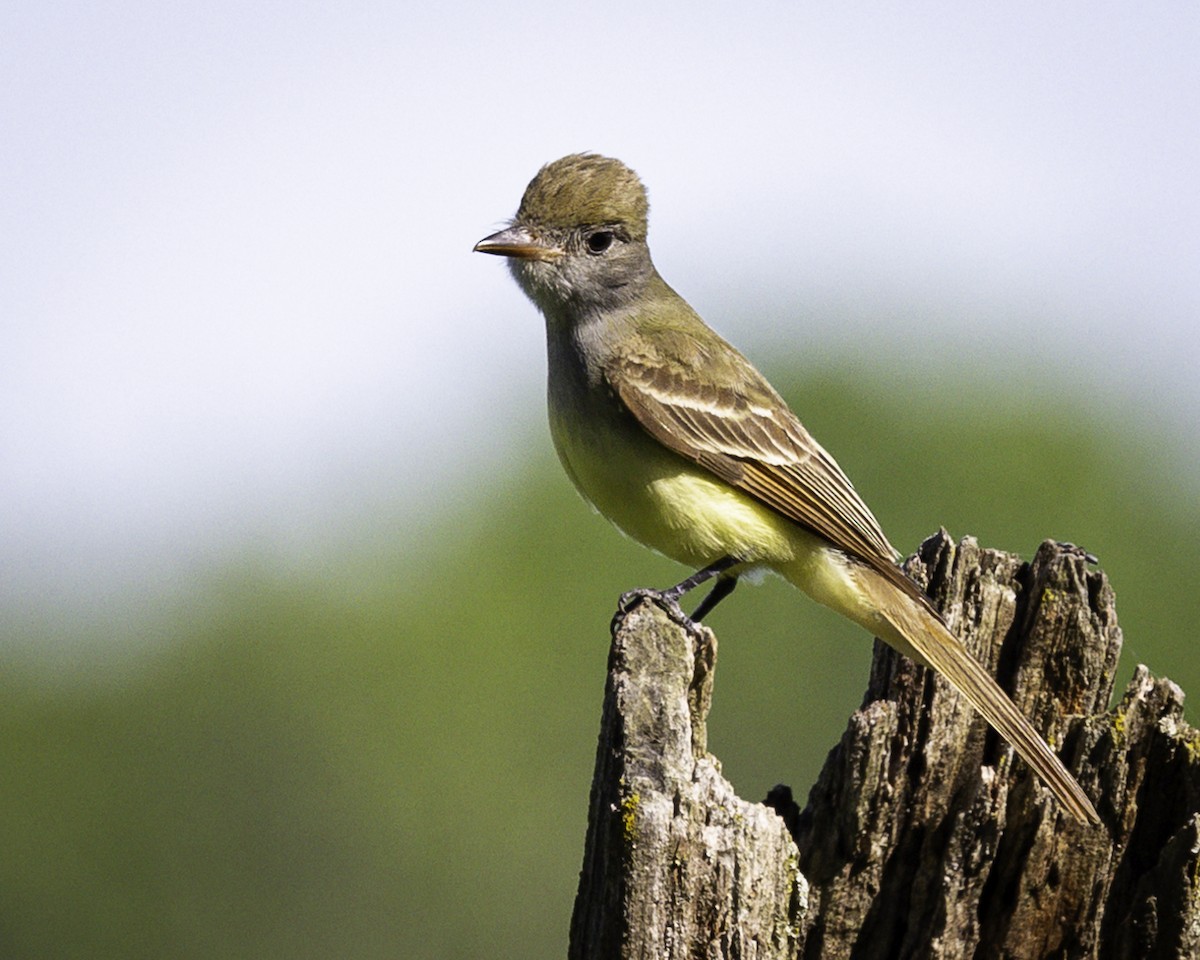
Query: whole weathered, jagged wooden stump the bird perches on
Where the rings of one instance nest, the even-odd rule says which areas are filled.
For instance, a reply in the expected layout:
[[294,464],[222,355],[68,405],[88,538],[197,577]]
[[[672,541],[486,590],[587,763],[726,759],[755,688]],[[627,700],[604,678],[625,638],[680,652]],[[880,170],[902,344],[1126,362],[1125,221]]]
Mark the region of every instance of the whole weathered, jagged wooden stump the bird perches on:
[[1069,546],[1026,564],[944,532],[908,570],[1104,822],[1064,816],[881,643],[804,811],[782,787],[745,803],[706,750],[715,637],[640,602],[613,622],[572,958],[1200,956],[1200,733],[1145,667],[1106,712],[1103,572]]

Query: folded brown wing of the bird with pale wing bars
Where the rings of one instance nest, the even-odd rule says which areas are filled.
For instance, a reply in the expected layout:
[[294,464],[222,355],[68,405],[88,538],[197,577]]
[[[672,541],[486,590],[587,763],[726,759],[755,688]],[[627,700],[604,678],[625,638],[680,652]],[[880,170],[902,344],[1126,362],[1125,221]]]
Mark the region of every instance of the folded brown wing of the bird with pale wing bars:
[[[610,385],[642,427],[665,446],[860,558],[920,595],[895,565],[898,552],[878,521],[796,414],[740,354],[720,356],[720,385],[703,354],[689,364],[635,356],[613,361]],[[697,362],[698,361],[698,362]]]

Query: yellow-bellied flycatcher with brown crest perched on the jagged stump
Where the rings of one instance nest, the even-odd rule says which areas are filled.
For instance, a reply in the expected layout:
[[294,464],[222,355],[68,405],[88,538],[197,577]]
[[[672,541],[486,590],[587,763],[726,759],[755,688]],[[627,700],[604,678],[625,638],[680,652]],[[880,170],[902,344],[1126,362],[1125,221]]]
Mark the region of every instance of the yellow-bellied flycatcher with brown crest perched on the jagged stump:
[[946,677],[1081,822],[1096,809],[1054,751],[896,566],[841,468],[766,378],[666,284],[629,167],[547,163],[511,226],[475,250],[509,258],[546,318],[550,428],[571,481],[617,527],[716,577],[700,619],[743,574],[773,570]]

